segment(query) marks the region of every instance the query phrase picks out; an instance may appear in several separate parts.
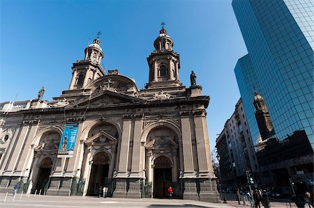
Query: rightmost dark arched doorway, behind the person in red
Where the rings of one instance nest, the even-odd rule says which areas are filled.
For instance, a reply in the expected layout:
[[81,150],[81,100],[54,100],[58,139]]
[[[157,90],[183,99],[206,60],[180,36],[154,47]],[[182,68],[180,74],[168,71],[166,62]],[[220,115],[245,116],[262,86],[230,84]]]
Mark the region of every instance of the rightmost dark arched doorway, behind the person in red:
[[154,163],[154,198],[167,198],[169,186],[172,186],[171,161],[161,156]]

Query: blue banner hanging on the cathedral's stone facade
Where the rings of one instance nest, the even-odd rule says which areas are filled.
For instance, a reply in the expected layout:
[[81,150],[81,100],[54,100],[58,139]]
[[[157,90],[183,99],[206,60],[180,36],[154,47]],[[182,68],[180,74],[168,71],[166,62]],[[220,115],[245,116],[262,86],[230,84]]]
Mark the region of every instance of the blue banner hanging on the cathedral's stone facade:
[[73,157],[78,124],[65,125],[61,137],[58,157]]

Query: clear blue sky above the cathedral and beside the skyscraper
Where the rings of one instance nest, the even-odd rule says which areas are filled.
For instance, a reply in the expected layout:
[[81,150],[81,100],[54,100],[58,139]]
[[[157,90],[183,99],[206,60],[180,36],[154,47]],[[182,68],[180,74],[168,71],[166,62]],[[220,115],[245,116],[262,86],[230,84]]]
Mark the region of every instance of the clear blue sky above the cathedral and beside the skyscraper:
[[207,121],[211,149],[240,97],[234,66],[247,51],[231,0],[0,0],[0,102],[44,99],[68,89],[71,66],[84,58],[89,38],[101,31],[105,70],[118,69],[137,87],[148,81],[147,57],[165,22],[181,56],[179,79],[197,75],[211,97]]

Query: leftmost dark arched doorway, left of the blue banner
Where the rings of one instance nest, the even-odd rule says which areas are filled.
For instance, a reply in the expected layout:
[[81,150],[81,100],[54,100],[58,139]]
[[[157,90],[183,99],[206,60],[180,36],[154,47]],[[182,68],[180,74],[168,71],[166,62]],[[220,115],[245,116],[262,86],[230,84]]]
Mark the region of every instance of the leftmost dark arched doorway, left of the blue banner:
[[44,194],[44,189],[47,183],[49,182],[50,173],[52,170],[53,161],[50,157],[45,157],[40,161],[40,166],[38,169],[38,175],[36,180],[35,189],[38,192],[41,190],[40,193]]

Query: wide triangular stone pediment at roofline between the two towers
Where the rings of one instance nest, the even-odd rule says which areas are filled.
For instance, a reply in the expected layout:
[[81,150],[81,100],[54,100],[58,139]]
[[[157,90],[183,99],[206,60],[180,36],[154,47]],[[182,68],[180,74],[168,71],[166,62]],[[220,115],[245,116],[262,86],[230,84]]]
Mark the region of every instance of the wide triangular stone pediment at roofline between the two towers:
[[77,106],[110,106],[117,104],[127,104],[144,101],[138,97],[124,95],[122,93],[113,92],[112,90],[101,90],[92,93],[91,96],[83,97],[75,102],[72,102],[66,108],[73,108]]

